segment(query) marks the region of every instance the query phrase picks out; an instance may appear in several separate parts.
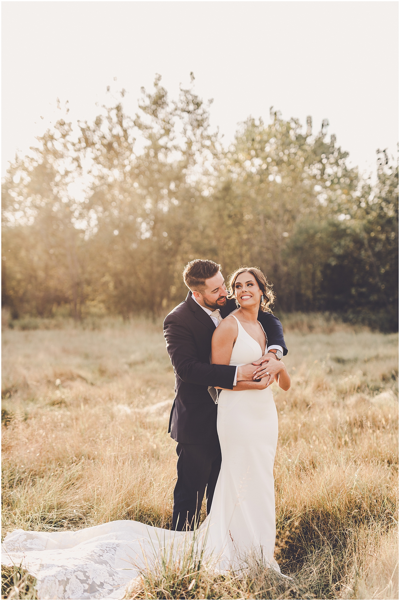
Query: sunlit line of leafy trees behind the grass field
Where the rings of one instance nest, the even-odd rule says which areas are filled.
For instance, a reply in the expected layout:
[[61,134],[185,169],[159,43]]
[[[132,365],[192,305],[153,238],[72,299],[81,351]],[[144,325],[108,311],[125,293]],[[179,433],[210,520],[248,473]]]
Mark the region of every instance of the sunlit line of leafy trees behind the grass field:
[[330,311],[396,331],[398,162],[378,150],[376,180],[362,178],[327,121],[313,133],[311,117],[304,129],[272,110],[225,148],[211,101],[193,88],[170,100],[160,79],[135,117],[123,90],[78,135],[60,118],[8,169],[2,306],[13,319],[165,314],[186,297],[186,263],[209,258],[226,279],[260,267],[277,314]]

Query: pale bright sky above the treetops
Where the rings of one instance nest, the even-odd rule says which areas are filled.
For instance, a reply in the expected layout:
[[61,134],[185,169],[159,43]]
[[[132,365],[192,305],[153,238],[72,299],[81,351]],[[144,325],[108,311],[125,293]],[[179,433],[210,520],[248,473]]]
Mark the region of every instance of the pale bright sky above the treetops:
[[398,2],[2,2],[2,63],[3,174],[56,97],[90,120],[112,85],[134,115],[155,73],[176,97],[191,71],[226,144],[273,105],[313,132],[328,118],[362,171],[378,147],[397,156]]

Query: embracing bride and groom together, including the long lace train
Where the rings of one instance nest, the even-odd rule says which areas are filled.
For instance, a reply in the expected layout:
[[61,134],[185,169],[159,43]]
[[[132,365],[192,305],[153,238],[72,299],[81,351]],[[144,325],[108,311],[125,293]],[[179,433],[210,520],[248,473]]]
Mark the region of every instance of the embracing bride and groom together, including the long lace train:
[[[280,572],[270,385],[276,380],[287,390],[290,378],[280,360],[287,353],[282,326],[268,311],[273,295],[254,267],[231,276],[229,297],[213,261],[191,261],[184,281],[186,301],[164,322],[176,375],[169,424],[178,443],[173,529],[116,520],[74,532],[7,534],[2,564],[25,567],[37,579],[38,599],[123,599],[132,579],[171,554],[175,563],[198,535],[216,570],[236,569],[261,551]],[[208,516],[198,528],[204,493]]]

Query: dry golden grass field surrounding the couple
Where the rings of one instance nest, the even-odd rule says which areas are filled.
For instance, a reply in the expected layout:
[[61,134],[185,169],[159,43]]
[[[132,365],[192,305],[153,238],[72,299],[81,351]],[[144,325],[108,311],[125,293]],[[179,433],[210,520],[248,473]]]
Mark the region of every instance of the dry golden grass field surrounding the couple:
[[[273,386],[276,558],[294,579],[202,566],[189,590],[169,566],[130,597],[398,599],[398,335],[316,323],[288,324],[292,387]],[[5,329],[2,377],[3,537],[117,519],[169,527],[174,374],[161,322]]]

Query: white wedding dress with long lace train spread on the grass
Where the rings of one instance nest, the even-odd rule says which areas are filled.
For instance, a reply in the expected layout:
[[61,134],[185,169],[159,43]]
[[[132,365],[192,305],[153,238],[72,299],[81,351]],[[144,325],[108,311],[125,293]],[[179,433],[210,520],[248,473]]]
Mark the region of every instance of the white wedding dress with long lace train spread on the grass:
[[[264,352],[237,323],[230,365],[245,365]],[[255,551],[280,572],[274,560],[277,412],[271,389],[221,391],[217,430],[222,465],[210,514],[196,536],[206,555],[215,558],[216,570],[235,569]],[[173,545],[178,553],[188,538],[193,532],[130,520],[75,532],[16,530],[4,539],[2,563],[22,562],[37,578],[38,599],[122,599],[126,585],[146,562],[151,565],[160,547]]]

